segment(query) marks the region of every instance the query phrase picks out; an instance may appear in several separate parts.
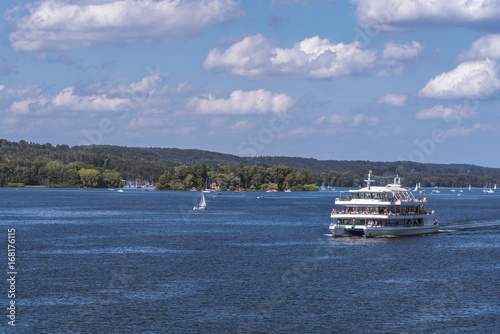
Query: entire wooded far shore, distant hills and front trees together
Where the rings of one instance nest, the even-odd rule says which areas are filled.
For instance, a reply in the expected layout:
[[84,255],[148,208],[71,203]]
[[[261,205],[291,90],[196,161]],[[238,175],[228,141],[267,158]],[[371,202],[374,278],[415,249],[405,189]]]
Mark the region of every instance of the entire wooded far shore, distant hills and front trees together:
[[[116,187],[124,180],[159,180],[161,189],[192,189],[210,177],[221,188],[309,189],[364,185],[368,170],[385,185],[398,174],[408,187],[484,187],[500,185],[500,169],[474,165],[410,161],[321,161],[293,157],[237,157],[175,148],[110,145],[74,146],[10,142],[0,139],[0,186]],[[375,178],[377,179],[377,177]]]

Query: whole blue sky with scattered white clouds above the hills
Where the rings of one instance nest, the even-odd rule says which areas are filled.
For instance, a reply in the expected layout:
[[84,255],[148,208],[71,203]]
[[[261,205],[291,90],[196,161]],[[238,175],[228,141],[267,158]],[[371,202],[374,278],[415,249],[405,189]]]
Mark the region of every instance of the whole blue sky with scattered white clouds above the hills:
[[0,11],[0,138],[500,167],[500,1]]

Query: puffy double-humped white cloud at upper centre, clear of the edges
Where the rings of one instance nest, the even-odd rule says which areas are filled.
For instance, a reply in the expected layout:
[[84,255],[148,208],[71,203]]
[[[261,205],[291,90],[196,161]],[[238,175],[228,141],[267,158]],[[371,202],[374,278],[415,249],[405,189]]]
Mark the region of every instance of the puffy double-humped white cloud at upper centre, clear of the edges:
[[276,48],[258,34],[243,38],[225,51],[211,50],[203,66],[247,77],[333,78],[365,72],[373,67],[375,58],[375,51],[363,50],[359,42],[333,44],[315,36],[292,48]]

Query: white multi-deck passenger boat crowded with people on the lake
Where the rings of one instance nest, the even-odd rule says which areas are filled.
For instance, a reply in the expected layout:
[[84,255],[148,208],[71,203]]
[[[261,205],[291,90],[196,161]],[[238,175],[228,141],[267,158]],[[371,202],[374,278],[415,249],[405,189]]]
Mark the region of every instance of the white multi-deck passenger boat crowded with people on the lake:
[[332,210],[333,236],[400,236],[439,231],[434,211],[424,208],[426,198],[415,198],[410,190],[402,187],[398,176],[385,187],[372,186],[371,175],[372,171],[365,180],[365,188],[349,190],[351,196],[335,199],[342,210]]

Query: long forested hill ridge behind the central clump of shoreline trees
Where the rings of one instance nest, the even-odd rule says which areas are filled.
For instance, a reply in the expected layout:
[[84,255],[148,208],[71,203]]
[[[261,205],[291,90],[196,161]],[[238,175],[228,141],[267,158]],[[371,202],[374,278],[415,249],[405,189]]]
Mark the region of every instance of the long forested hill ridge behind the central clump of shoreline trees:
[[[252,166],[268,169],[273,166],[286,166],[290,168],[290,173],[301,170],[307,170],[307,173],[312,172],[311,177],[314,177],[316,184],[324,183],[334,187],[360,186],[368,170],[373,170],[378,176],[399,174],[407,186],[413,186],[416,183],[421,183],[424,187],[467,187],[469,184],[473,187],[483,187],[487,183],[500,185],[500,169],[466,164],[317,160],[269,156],[239,157],[196,149],[112,145],[69,147],[68,145],[53,146],[50,143],[11,142],[0,139],[0,186],[3,187],[9,184],[82,186],[87,185],[82,177],[96,175],[92,170],[99,172],[97,181],[87,180],[93,186],[106,186],[107,184],[116,186],[118,179],[159,180],[160,176],[168,173],[172,176],[174,167],[185,170],[185,167],[199,167],[203,164],[211,173],[216,173],[221,166],[229,166],[233,167],[231,173],[241,175],[245,173],[245,168]],[[229,171],[228,168],[224,168]],[[182,181],[179,177],[182,177],[183,173],[177,174],[175,182],[178,184]],[[382,182],[385,181],[381,180]],[[279,188],[283,186],[279,185]]]

